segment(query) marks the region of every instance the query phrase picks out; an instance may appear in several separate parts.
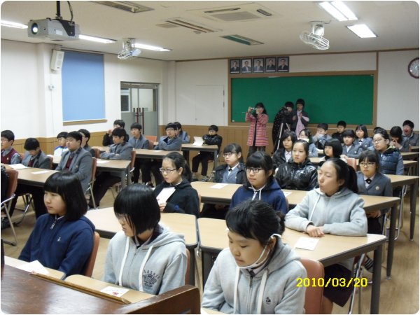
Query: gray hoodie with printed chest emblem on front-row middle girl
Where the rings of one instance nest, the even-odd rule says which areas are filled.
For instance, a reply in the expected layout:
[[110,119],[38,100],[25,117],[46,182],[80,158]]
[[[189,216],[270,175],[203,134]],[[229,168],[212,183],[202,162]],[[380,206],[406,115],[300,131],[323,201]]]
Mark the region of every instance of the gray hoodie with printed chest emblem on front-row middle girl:
[[137,248],[133,238],[120,231],[109,242],[104,281],[157,295],[183,286],[186,269],[183,235],[162,228],[156,239]]

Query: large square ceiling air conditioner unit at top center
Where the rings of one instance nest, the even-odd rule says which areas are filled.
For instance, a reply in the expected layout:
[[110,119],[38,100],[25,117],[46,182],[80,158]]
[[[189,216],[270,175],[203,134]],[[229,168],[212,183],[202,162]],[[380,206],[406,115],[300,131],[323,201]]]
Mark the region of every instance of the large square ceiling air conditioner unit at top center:
[[200,10],[189,10],[189,13],[200,15],[210,20],[233,22],[270,18],[274,12],[261,6],[258,3],[240,4],[238,6],[225,6],[218,8],[204,8]]

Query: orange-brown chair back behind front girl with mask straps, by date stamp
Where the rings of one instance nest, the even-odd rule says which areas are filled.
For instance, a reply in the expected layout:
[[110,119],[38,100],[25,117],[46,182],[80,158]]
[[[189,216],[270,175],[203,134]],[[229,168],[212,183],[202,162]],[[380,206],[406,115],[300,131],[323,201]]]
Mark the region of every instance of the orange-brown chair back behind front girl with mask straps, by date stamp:
[[[318,260],[300,258],[300,262],[307,269],[308,279],[319,279],[324,277],[324,268]],[[323,300],[323,286],[308,286],[304,295],[305,314],[321,314]]]

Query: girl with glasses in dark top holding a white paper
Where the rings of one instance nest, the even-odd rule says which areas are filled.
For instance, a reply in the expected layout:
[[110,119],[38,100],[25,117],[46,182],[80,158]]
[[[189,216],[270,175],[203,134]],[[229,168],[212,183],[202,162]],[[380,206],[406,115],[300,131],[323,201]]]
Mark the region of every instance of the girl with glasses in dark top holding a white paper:
[[179,152],[168,153],[162,161],[160,172],[163,181],[153,192],[158,197],[165,188],[175,188],[167,200],[158,200],[160,211],[193,214],[197,218],[200,211],[198,193],[191,187],[191,171]]

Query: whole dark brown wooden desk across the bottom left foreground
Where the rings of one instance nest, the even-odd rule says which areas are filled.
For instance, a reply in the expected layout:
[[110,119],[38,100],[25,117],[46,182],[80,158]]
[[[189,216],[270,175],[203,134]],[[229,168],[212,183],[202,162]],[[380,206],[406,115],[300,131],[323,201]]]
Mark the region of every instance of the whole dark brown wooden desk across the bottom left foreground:
[[182,286],[162,295],[130,290],[137,299],[144,298],[124,304],[105,294],[93,295],[97,293],[96,289],[69,287],[74,283],[84,283],[92,288],[112,286],[109,283],[99,283],[94,279],[88,281],[83,276],[69,278],[73,279],[47,280],[5,265],[1,267],[1,310],[10,314],[168,314],[168,309],[197,314],[200,311],[200,292],[193,286]]

